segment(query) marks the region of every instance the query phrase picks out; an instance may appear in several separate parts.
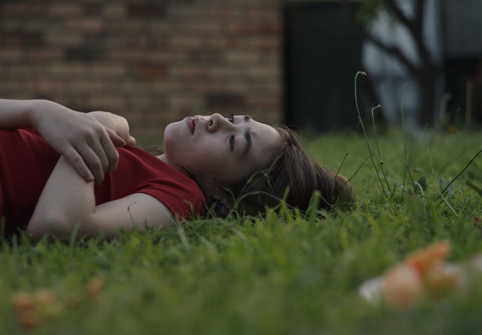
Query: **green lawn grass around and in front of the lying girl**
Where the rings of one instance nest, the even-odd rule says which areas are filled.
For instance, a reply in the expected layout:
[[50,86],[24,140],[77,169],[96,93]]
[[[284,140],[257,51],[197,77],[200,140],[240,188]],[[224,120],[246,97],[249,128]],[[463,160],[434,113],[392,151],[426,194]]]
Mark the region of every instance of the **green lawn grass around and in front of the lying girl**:
[[[377,135],[388,185],[393,189],[397,182],[395,196],[390,202],[380,193],[368,159],[352,179],[359,203],[346,215],[327,213],[326,219],[319,219],[268,212],[266,219],[254,223],[236,217],[200,220],[163,232],[122,233],[112,242],[99,236],[75,245],[32,243],[25,237],[3,243],[0,333],[27,333],[15,319],[15,292],[50,288],[62,300],[72,293],[81,295],[93,276],[106,281],[94,301],[61,309],[28,333],[479,333],[482,284],[465,295],[448,295],[410,309],[368,305],[357,289],[433,241],[450,240],[454,249],[449,260],[454,262],[482,251],[481,227],[473,219],[481,216],[481,196],[465,183],[469,178],[481,184],[482,157],[444,194],[453,211],[435,201],[441,178],[452,180],[482,149],[482,133],[428,134],[410,163],[415,181],[426,173],[427,192],[418,199],[405,195],[403,204],[408,160],[402,132]],[[371,137],[373,132],[368,133],[369,141]],[[334,171],[348,152],[340,170],[348,177],[369,155],[364,137],[353,133],[307,142],[307,150]],[[408,138],[407,153],[419,143]],[[372,145],[377,152],[375,138]],[[405,189],[414,191],[406,177]]]

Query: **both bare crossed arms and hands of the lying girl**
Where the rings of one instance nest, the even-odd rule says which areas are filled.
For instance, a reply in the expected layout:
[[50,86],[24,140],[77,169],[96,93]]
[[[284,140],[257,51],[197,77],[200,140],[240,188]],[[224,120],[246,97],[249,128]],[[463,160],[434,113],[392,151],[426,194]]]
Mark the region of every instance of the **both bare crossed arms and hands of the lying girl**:
[[94,181],[100,183],[105,172],[117,168],[115,146],[135,144],[123,117],[84,114],[45,100],[0,99],[0,129],[20,128],[37,129],[62,155],[40,194],[27,233],[39,238],[53,233],[68,240],[79,222],[77,236],[102,230],[107,237],[115,236],[118,228],[133,229],[134,222],[140,231],[145,223],[161,228],[169,224],[169,209],[144,193],[95,206]]

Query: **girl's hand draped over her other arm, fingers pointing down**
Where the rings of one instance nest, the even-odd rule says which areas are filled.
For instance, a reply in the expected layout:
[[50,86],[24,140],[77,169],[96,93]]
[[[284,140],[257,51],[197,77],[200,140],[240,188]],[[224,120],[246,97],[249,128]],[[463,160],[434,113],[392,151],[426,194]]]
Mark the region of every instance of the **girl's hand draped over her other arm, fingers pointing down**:
[[115,147],[122,147],[127,141],[94,116],[39,100],[32,117],[34,128],[45,142],[65,156],[85,181],[95,180],[98,185],[104,180],[104,173],[117,168],[119,153]]

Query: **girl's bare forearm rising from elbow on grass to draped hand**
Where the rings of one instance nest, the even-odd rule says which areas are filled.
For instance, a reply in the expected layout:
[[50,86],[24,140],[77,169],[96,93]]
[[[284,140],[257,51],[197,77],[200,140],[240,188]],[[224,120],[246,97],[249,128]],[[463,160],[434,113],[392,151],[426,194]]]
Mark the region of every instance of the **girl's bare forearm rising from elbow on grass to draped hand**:
[[61,156],[40,194],[27,233],[40,238],[51,232],[68,241],[75,225],[89,222],[94,210],[94,182],[83,180]]

